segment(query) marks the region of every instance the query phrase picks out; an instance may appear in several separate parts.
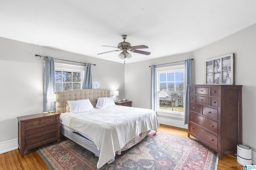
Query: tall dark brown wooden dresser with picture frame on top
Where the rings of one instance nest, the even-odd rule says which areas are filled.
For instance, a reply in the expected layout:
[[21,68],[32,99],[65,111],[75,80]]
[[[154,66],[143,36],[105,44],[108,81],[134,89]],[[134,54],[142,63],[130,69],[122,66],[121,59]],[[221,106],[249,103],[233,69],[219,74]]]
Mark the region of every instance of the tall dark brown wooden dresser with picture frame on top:
[[242,86],[189,85],[188,137],[218,152],[234,154],[242,142]]

